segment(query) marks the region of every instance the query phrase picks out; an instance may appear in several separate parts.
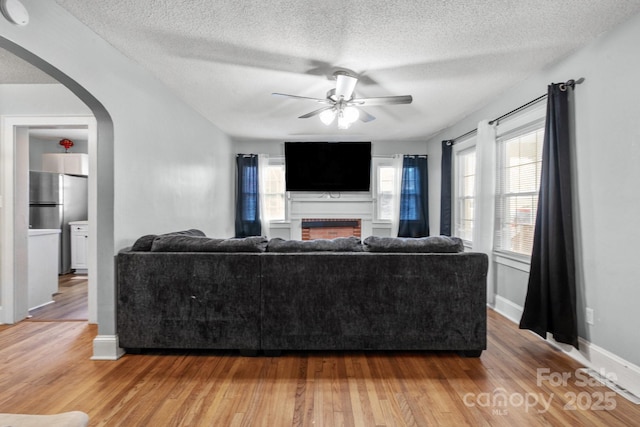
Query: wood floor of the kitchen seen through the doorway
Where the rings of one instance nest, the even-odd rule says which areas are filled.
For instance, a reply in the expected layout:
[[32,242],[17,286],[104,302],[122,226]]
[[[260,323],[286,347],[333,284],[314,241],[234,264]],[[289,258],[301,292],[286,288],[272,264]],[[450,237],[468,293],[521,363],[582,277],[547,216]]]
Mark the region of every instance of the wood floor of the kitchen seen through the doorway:
[[31,321],[88,319],[87,276],[65,274],[58,278],[53,303],[29,311]]

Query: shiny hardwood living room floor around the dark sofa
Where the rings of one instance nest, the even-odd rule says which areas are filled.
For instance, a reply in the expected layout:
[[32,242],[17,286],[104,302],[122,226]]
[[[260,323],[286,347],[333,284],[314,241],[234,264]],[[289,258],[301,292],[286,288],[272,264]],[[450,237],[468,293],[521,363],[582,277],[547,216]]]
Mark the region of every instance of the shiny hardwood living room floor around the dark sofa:
[[[480,358],[447,352],[159,352],[92,361],[95,325],[0,326],[0,412],[91,426],[631,426],[640,405],[489,310]],[[538,369],[546,369],[539,374]],[[569,375],[567,381],[552,381]]]

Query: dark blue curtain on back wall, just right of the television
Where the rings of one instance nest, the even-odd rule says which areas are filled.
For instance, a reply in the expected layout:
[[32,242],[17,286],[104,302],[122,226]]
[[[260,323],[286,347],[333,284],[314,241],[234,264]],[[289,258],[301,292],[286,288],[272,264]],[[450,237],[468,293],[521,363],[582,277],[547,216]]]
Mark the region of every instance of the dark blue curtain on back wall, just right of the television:
[[404,156],[398,237],[429,235],[427,156]]

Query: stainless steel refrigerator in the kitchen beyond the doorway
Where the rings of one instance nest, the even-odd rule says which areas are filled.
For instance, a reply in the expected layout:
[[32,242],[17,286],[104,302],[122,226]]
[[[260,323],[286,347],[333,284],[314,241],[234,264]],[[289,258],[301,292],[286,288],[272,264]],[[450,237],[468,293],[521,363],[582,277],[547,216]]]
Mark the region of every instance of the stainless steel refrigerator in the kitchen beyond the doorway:
[[87,177],[29,172],[29,228],[61,230],[59,274],[71,271],[69,222],[87,220]]

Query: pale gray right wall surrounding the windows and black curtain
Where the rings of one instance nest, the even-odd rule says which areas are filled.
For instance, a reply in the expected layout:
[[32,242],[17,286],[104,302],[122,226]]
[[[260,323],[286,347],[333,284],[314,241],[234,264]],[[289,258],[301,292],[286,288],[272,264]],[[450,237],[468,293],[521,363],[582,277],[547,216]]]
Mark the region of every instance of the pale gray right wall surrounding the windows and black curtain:
[[[592,344],[640,365],[637,324],[640,286],[636,269],[640,227],[640,15],[532,75],[485,108],[432,138],[430,158],[440,158],[440,141],[496,118],[546,93],[551,82],[584,77],[575,89],[575,234],[580,335]],[[439,228],[440,167],[430,164],[432,227]],[[436,229],[436,228],[434,228]],[[502,269],[498,294],[524,303],[527,274]],[[595,324],[584,322],[584,306]]]

